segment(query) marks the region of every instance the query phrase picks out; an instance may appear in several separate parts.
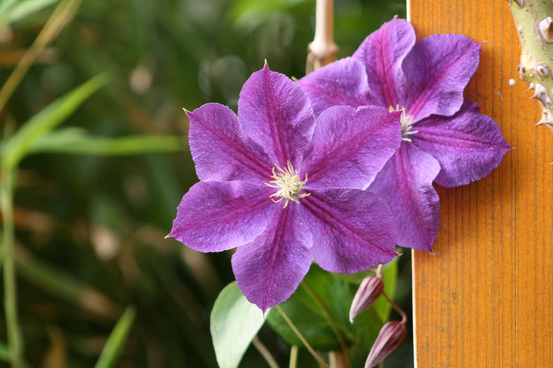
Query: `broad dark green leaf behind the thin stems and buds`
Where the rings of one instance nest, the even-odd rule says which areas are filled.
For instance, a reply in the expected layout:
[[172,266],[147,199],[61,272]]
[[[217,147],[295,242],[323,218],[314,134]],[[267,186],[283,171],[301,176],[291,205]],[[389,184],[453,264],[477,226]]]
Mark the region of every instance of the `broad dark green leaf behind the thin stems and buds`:
[[[391,295],[395,289],[396,262],[397,260],[393,260],[384,268],[384,282],[389,283],[385,285],[386,292]],[[370,349],[390,311],[389,304],[381,297],[377,300],[378,304],[373,304],[373,307],[357,316],[353,325],[349,322],[348,314],[353,296],[368,273],[329,273],[314,264],[303,281],[317,293],[348,344],[362,345],[364,349]],[[290,299],[281,303],[281,307],[312,347],[322,351],[340,349],[339,340],[326,313],[304,287],[300,286]],[[303,346],[279,313],[270,313],[268,323],[288,345]]]

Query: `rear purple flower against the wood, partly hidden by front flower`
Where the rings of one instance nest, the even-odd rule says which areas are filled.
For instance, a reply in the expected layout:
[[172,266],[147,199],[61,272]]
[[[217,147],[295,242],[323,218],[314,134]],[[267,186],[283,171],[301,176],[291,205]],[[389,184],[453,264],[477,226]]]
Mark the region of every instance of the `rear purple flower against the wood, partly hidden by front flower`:
[[480,44],[466,36],[432,35],[415,43],[411,23],[393,19],[353,57],[299,81],[316,114],[335,105],[402,111],[401,148],[366,183],[395,213],[402,246],[432,249],[440,224],[433,182],[458,186],[478,180],[510,148],[497,124],[463,99],[479,57]]

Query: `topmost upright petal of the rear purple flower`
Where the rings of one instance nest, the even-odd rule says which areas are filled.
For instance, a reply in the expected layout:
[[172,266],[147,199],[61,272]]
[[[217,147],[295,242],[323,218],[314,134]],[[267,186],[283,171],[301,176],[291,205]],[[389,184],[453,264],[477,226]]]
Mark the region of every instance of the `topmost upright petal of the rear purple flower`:
[[415,44],[415,31],[404,19],[392,19],[371,33],[353,54],[365,65],[373,103],[388,107],[404,103],[402,61]]

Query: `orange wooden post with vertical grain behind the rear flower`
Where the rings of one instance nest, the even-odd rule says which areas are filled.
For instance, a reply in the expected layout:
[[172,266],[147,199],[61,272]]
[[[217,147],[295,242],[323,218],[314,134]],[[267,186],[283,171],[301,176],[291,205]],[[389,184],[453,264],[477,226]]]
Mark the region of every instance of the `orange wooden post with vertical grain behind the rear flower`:
[[418,37],[486,41],[466,97],[516,148],[485,179],[438,188],[435,254],[413,254],[415,360],[420,368],[553,367],[553,142],[534,126],[538,104],[518,79],[507,1],[412,0],[410,15]]

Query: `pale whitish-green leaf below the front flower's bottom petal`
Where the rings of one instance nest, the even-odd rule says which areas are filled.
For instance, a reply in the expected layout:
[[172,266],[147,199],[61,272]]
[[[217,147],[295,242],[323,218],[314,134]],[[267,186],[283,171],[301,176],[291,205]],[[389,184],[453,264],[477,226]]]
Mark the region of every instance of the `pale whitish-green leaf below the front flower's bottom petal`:
[[220,368],[236,368],[265,322],[263,313],[247,301],[236,282],[228,284],[213,306],[210,329]]

